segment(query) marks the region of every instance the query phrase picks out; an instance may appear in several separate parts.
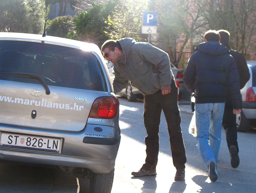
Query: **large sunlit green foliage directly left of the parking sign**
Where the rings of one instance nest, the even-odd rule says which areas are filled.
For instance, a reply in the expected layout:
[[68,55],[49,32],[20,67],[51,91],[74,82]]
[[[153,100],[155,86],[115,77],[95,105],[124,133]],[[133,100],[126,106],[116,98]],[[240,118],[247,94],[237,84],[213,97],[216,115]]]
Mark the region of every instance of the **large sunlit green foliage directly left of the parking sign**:
[[74,32],[67,37],[101,46],[108,39],[131,37],[145,41],[141,34],[142,12],[147,9],[146,0],[108,0],[93,3],[91,10],[77,16]]

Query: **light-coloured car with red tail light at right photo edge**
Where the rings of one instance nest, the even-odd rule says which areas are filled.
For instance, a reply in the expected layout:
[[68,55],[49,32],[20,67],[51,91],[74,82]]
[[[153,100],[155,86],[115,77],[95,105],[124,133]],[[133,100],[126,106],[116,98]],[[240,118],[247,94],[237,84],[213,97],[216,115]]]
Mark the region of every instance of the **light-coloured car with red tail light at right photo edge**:
[[248,131],[256,127],[256,61],[247,61],[250,79],[241,89],[243,108],[236,115],[237,130]]

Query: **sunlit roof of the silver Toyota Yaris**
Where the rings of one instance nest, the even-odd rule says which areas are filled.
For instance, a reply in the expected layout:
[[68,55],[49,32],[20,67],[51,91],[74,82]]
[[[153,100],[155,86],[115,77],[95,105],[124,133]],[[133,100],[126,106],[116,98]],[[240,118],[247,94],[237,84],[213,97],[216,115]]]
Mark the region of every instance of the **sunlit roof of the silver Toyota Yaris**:
[[98,55],[101,55],[99,47],[96,44],[86,43],[83,41],[77,41],[67,38],[59,38],[54,36],[38,34],[28,34],[28,33],[14,33],[14,32],[0,32],[0,40],[12,40],[12,41],[31,41],[31,42],[40,42],[45,44],[55,44],[66,47],[78,48],[88,52],[96,52]]

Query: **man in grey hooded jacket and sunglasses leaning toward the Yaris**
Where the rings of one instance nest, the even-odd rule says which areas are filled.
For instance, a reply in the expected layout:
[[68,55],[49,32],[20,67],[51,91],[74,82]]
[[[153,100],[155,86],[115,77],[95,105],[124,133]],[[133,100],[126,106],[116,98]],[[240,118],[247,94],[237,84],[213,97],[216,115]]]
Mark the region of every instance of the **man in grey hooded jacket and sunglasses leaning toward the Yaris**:
[[114,93],[126,88],[128,81],[144,94],[144,124],[148,136],[145,138],[146,160],[133,176],[156,176],[159,152],[159,124],[163,109],[170,135],[174,180],[185,179],[186,152],[181,132],[180,109],[177,103],[178,89],[170,67],[168,54],[146,43],[132,38],[108,40],[101,51],[106,60],[114,64]]

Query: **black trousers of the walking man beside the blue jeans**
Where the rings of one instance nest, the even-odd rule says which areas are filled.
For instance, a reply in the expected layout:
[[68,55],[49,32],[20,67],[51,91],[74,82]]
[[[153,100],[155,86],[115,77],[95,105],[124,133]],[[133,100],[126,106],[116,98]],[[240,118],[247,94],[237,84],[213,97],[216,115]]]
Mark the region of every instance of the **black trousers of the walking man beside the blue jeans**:
[[233,101],[230,97],[226,98],[222,124],[226,131],[228,148],[230,149],[230,146],[236,146],[237,151],[239,151],[237,143],[236,115],[233,114]]

